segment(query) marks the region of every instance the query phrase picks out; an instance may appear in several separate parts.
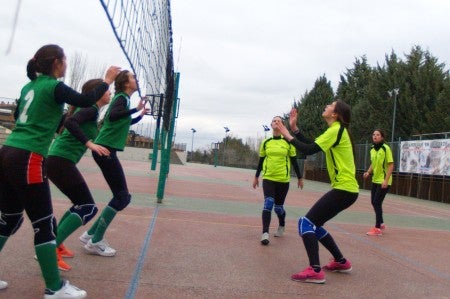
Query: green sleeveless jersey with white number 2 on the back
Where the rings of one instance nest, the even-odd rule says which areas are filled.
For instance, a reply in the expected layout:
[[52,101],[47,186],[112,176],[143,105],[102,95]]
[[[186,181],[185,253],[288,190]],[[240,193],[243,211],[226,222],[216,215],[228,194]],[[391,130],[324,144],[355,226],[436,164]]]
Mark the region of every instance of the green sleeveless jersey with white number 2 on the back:
[[40,75],[22,88],[16,126],[5,145],[47,156],[64,106],[55,100],[58,83],[55,78]]

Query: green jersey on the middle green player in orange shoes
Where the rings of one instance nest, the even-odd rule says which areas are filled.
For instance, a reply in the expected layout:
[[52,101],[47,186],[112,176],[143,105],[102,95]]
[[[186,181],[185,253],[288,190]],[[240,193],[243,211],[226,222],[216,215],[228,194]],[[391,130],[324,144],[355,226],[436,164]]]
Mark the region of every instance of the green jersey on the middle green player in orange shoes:
[[[98,116],[97,105],[93,105],[91,108],[86,109],[95,109],[97,112],[96,116]],[[77,110],[75,110],[75,113],[78,113],[79,111],[80,108],[77,108]],[[87,140],[94,140],[98,134],[97,117],[80,124],[80,129],[83,131]],[[86,150],[87,148],[84,143],[81,143],[80,140],[72,135],[67,129],[64,129],[61,135],[56,137],[55,141],[50,147],[48,154],[49,156],[66,158],[77,164],[80,161],[81,157],[83,157]]]

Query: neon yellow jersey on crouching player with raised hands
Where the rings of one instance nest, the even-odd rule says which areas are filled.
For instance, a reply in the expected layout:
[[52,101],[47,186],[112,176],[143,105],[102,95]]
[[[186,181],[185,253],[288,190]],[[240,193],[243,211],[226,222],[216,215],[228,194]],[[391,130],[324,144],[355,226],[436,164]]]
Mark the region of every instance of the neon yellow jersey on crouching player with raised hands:
[[325,153],[331,186],[334,189],[358,193],[353,146],[347,129],[336,121],[316,138],[315,143]]

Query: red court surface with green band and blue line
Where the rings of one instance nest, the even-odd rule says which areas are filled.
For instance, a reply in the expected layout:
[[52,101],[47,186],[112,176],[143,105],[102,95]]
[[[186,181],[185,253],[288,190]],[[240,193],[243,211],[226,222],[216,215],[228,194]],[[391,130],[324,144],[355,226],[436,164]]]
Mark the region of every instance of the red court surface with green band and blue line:
[[[65,244],[76,256],[61,275],[85,289],[88,298],[450,298],[450,206],[388,194],[386,232],[366,236],[374,224],[367,191],[325,225],[345,257],[349,274],[326,273],[323,285],[299,283],[290,275],[308,264],[297,220],[329,185],[294,180],[286,199],[287,228],[268,246],[261,236],[262,188],[251,188],[253,170],[209,165],[170,165],[164,198],[157,204],[159,165],[122,161],[132,203],[118,213],[106,239],[115,257],[84,252],[78,237]],[[111,193],[89,157],[79,164],[99,205]],[[57,219],[70,207],[52,187]],[[89,225],[89,224],[88,224]],[[33,259],[29,220],[0,253],[0,298],[43,298],[44,283]],[[320,247],[321,263],[330,258]]]

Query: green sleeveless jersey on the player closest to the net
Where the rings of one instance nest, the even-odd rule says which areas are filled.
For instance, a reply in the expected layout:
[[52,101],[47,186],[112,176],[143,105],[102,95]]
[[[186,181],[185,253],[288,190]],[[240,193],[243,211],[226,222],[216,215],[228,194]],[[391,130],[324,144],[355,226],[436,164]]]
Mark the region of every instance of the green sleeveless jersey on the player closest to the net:
[[127,142],[128,131],[130,130],[131,114],[114,121],[110,119],[111,109],[114,108],[115,102],[120,97],[125,98],[126,109],[130,110],[130,97],[123,92],[116,94],[106,111],[102,128],[95,139],[95,143],[123,151]]

